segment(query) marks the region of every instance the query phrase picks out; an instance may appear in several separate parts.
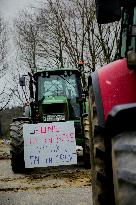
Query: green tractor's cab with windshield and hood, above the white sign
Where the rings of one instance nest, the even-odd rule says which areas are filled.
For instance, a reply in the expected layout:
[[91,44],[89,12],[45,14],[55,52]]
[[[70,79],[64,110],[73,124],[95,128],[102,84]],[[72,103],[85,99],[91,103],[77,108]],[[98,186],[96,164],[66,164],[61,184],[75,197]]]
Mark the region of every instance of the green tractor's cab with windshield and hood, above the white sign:
[[40,122],[80,119],[82,85],[77,69],[48,69],[36,72],[34,79]]

